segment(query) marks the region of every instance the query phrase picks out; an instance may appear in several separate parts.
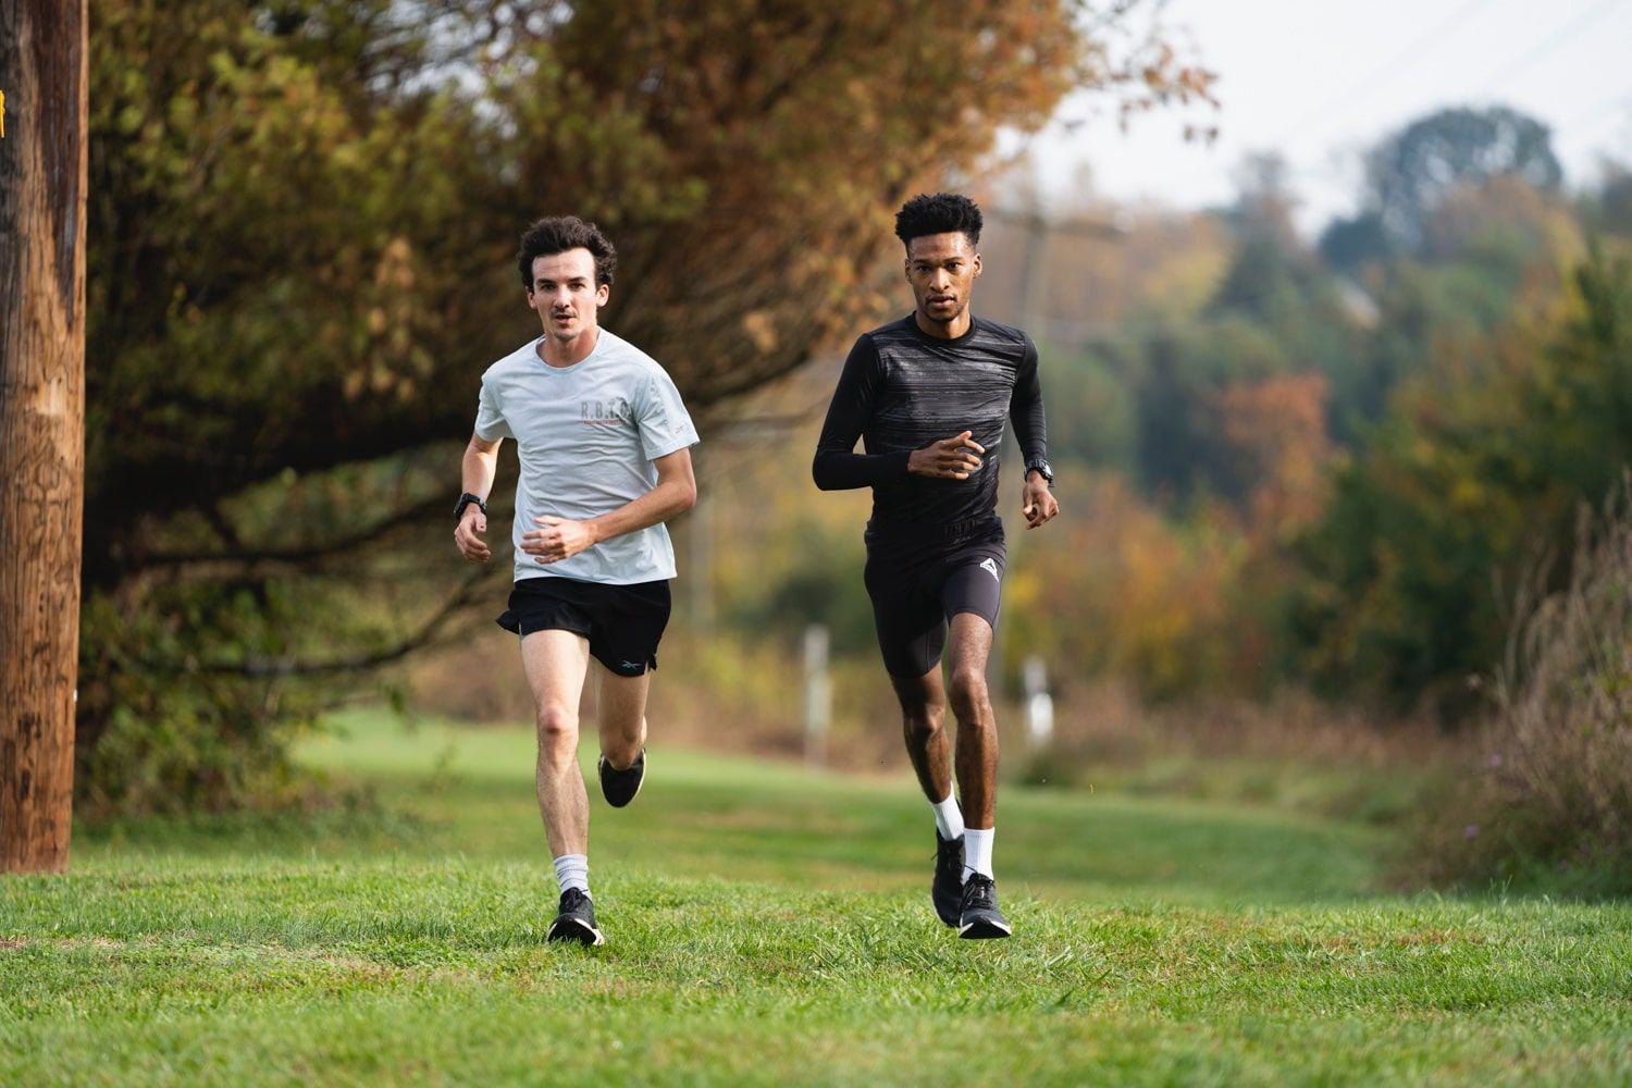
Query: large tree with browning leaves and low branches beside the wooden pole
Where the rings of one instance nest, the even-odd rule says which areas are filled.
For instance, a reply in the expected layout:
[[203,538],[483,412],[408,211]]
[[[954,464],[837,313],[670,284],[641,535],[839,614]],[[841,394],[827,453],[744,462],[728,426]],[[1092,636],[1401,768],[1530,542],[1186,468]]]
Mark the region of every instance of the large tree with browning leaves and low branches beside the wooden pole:
[[[512,264],[529,220],[607,227],[605,323],[720,411],[871,316],[894,206],[999,127],[1075,86],[1204,91],[1154,38],[1111,55],[1095,36],[1134,5],[1093,33],[1090,7],[101,5],[93,788],[225,803],[290,679],[454,630],[472,582],[380,563],[437,546],[437,444],[468,434],[481,365],[535,334]],[[362,607],[369,586],[401,602]],[[132,785],[155,745],[214,768],[165,755]]]

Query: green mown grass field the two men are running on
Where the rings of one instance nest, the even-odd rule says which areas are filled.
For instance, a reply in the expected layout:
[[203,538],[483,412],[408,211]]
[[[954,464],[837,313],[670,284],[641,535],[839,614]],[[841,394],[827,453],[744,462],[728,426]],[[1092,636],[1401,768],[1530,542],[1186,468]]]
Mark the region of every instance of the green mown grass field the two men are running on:
[[0,879],[0,1085],[1632,1083],[1632,909],[1390,896],[1359,820],[1007,788],[958,941],[911,780],[659,734],[558,948],[527,732],[339,721],[375,804]]

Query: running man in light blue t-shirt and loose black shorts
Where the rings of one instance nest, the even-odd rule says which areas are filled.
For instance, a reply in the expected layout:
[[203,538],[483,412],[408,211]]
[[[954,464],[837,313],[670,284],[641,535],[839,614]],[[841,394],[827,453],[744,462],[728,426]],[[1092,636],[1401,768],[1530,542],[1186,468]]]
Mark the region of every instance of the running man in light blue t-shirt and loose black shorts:
[[697,429],[663,367],[599,326],[617,251],[594,223],[539,220],[517,268],[543,336],[481,375],[454,542],[475,563],[493,556],[486,498],[499,444],[514,439],[516,587],[498,623],[521,636],[537,710],[539,811],[561,884],[550,940],[601,944],[578,700],[594,657],[605,666],[601,791],[623,807],[646,773],[646,687],[669,621],[674,546],[663,522],[697,502]]

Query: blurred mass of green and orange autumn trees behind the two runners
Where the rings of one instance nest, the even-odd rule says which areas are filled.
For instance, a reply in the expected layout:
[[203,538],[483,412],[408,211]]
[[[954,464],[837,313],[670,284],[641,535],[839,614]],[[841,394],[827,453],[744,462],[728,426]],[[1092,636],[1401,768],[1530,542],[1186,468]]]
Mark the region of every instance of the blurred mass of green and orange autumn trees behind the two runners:
[[1524,750],[1537,706],[1572,728],[1528,679],[1557,657],[1510,635],[1585,592],[1578,511],[1632,457],[1632,173],[1570,188],[1546,126],[1452,106],[1381,139],[1312,238],[1273,152],[1222,207],[1089,178],[1044,207],[999,132],[1077,88],[1206,101],[1147,7],[103,5],[86,811],[297,796],[287,739],[349,695],[526,713],[488,623],[508,563],[462,568],[446,514],[477,377],[537,328],[514,238],[568,210],[623,253],[607,325],[703,418],[666,729],[798,750],[823,623],[829,750],[899,759],[867,494],[818,496],[808,465],[850,338],[909,307],[891,215],[943,184],[987,210],[976,308],[1041,343],[1064,511],[1010,533],[999,690],[1041,657],[1079,732],[1106,685],[1196,728],[1284,698],[1377,736],[1519,703]]

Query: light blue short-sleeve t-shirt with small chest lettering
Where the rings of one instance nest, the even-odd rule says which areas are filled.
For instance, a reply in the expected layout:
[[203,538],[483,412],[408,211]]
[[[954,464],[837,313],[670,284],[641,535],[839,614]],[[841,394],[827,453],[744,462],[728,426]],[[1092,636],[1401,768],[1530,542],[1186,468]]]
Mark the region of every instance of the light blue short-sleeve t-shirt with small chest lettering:
[[560,559],[539,563],[521,535],[534,517],[599,517],[658,486],[653,462],[697,444],[681,391],[658,362],[601,329],[594,351],[570,367],[552,367],[539,341],[499,359],[481,375],[477,434],[516,439],[516,581],[576,577],[633,586],[674,577],[674,545],[661,524]]

